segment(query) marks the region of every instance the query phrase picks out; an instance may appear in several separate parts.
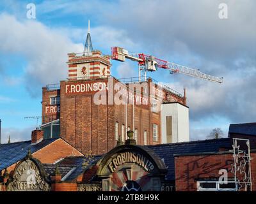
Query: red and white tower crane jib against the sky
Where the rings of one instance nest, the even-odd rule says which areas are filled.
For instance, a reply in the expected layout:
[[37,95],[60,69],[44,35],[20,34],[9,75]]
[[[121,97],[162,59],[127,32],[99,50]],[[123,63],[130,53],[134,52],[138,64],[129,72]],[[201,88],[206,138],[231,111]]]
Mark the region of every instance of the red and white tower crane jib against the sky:
[[111,59],[124,62],[125,59],[130,59],[132,61],[136,61],[139,64],[139,79],[141,75],[141,71],[144,72],[144,76],[146,77],[147,71],[157,71],[157,68],[163,68],[170,71],[171,74],[174,73],[182,73],[184,75],[189,75],[191,77],[201,78],[204,80],[208,80],[210,82],[223,82],[223,77],[214,77],[211,75],[207,75],[199,71],[199,69],[191,69],[186,66],[182,66],[180,64],[175,64],[173,62],[164,61],[163,59],[158,59],[152,55],[147,54],[130,54],[128,50],[125,50],[121,47],[112,47],[111,48],[112,56]]

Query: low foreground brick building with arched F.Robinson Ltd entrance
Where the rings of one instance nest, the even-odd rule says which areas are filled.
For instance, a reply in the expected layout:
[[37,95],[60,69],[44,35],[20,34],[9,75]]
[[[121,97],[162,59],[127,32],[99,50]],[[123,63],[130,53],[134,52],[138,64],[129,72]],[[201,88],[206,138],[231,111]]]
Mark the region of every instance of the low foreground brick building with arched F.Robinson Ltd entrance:
[[[0,191],[256,191],[256,151],[250,148],[250,166],[237,160],[235,177],[234,138],[147,146],[137,145],[132,131],[127,138],[106,154],[84,156],[35,130],[31,141],[0,145]],[[244,189],[249,167],[252,184]],[[33,170],[36,179],[28,180]],[[221,184],[225,173],[227,184]]]

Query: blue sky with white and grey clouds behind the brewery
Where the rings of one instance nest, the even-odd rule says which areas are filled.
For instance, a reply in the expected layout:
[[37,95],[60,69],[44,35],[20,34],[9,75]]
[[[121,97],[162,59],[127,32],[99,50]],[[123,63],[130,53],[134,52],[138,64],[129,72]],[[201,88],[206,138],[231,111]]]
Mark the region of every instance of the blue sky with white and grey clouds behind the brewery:
[[[27,15],[30,3],[35,18]],[[30,139],[36,119],[24,117],[41,115],[43,86],[67,78],[67,53],[83,52],[88,20],[93,48],[103,54],[119,46],[224,78],[217,84],[166,70],[149,74],[176,91],[186,88],[191,140],[206,139],[214,128],[227,136],[230,123],[255,122],[255,8],[253,0],[2,0],[1,142],[9,135],[12,142]],[[116,78],[138,75],[135,62],[111,63]]]

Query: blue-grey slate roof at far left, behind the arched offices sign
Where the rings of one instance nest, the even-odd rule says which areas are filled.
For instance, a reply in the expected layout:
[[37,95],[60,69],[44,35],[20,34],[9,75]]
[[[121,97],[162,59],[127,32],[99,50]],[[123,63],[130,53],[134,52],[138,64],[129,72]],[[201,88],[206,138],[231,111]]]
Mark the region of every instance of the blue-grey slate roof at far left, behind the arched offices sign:
[[26,157],[29,149],[33,154],[58,139],[42,140],[36,144],[31,144],[31,140],[0,144],[0,171]]

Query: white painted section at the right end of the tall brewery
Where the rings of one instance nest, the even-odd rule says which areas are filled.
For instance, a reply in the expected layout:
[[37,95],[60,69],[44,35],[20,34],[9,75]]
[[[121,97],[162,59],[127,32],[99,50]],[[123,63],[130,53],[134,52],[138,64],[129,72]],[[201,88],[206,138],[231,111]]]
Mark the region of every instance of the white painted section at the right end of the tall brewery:
[[162,143],[189,142],[189,108],[180,103],[162,104]]

